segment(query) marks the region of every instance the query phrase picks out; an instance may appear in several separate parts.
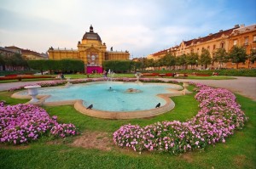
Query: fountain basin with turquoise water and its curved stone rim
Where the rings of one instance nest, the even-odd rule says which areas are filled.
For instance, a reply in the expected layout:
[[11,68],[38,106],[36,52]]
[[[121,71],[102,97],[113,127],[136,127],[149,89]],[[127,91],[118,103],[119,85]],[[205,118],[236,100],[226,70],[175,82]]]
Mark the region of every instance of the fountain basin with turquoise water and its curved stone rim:
[[[112,89],[109,90],[109,87]],[[142,92],[126,93],[127,88],[136,88]],[[73,104],[76,110],[85,115],[107,119],[132,119],[160,115],[172,110],[175,104],[170,97],[182,95],[181,91],[177,91],[180,89],[182,87],[179,85],[166,83],[90,82],[72,87],[41,88],[39,93],[44,95],[42,97],[44,101],[41,100],[44,105]],[[78,93],[77,97],[71,97],[74,91]],[[55,97],[56,93],[60,95]],[[24,97],[26,94],[24,91],[20,91],[13,95],[15,97],[12,97]],[[98,98],[93,98],[93,94]],[[141,94],[145,95],[140,96]],[[102,104],[105,103],[107,107],[101,108]],[[161,106],[155,109],[155,105],[158,103],[161,103]],[[86,110],[90,104],[93,104],[93,109]]]

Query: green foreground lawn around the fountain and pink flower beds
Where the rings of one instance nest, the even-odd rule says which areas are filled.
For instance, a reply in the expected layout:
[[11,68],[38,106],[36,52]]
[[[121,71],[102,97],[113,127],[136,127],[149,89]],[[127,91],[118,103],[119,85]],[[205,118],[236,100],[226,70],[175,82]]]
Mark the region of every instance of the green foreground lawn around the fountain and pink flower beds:
[[[176,104],[174,110],[164,115],[148,119],[103,120],[82,115],[73,106],[44,107],[49,115],[58,115],[59,122],[72,122],[84,132],[113,132],[124,124],[145,126],[156,121],[185,121],[198,111],[198,102],[194,95],[172,98]],[[75,138],[57,144],[49,138],[41,138],[29,145],[10,146],[0,144],[0,168],[255,168],[256,166],[256,104],[251,99],[236,95],[242,110],[249,121],[241,131],[226,139],[225,144],[207,146],[204,151],[194,151],[183,155],[149,153],[141,155],[131,149],[120,149],[111,144],[110,150],[85,149],[73,147]],[[24,100],[9,99],[9,93],[0,92],[0,99],[9,104],[24,103]],[[100,138],[99,138],[100,139]]]

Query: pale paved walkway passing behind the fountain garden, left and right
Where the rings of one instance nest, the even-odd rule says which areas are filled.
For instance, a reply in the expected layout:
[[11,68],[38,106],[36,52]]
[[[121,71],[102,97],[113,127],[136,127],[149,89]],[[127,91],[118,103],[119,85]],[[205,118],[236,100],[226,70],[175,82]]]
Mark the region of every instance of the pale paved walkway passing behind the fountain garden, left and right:
[[[163,78],[167,80],[166,78]],[[169,79],[168,79],[169,80]],[[247,98],[256,101],[256,77],[236,77],[232,80],[192,80],[192,79],[175,79],[178,82],[200,82],[211,87],[222,87],[229,89],[233,93],[239,93]],[[54,81],[41,81],[54,82]],[[20,87],[24,85],[32,85],[38,82],[10,82],[0,83],[0,91],[8,90],[12,87]]]

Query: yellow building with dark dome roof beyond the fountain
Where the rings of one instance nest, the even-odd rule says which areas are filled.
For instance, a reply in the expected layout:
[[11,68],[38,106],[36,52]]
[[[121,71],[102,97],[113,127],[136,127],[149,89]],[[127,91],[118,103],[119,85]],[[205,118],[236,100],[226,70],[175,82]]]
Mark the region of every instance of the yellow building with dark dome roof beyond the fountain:
[[84,61],[84,72],[102,73],[102,62],[105,60],[128,60],[128,51],[107,51],[106,43],[102,43],[101,37],[93,31],[84,33],[82,42],[78,42],[78,49],[49,48],[49,59],[80,59]]

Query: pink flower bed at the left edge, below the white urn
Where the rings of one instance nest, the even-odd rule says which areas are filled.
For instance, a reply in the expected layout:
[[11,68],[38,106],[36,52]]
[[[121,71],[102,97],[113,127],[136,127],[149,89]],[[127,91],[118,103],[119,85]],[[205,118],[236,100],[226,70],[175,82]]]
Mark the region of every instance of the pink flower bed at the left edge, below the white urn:
[[32,104],[0,102],[0,143],[24,144],[47,134],[61,138],[79,134],[73,124],[59,124],[56,119]]

